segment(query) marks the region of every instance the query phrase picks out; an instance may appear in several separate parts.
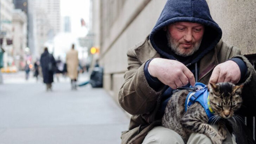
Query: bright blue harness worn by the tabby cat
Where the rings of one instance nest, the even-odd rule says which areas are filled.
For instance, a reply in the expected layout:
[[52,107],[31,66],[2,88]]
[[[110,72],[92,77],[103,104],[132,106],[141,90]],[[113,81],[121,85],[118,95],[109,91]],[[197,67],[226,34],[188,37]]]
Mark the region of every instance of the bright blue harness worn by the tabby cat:
[[[192,88],[192,86],[190,87]],[[205,112],[209,118],[208,122],[211,122],[211,118],[214,116],[214,111],[210,107],[207,85],[204,85],[202,83],[196,83],[194,88],[197,88],[196,92],[190,92],[187,95],[185,102],[185,111],[187,111],[188,107],[190,107],[193,103],[198,102],[204,107]]]

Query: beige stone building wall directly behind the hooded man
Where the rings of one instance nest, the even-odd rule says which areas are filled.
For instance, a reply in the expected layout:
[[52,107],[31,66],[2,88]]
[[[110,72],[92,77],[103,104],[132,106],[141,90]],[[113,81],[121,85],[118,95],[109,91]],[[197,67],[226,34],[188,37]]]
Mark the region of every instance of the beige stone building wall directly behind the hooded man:
[[[127,50],[145,40],[167,0],[92,0],[95,45],[100,45],[104,89],[115,100],[127,71]],[[242,54],[256,54],[256,3],[206,0],[213,19],[223,30],[223,40]],[[242,7],[241,7],[242,6]],[[98,26],[98,24],[100,24]],[[256,59],[256,55],[254,56]]]

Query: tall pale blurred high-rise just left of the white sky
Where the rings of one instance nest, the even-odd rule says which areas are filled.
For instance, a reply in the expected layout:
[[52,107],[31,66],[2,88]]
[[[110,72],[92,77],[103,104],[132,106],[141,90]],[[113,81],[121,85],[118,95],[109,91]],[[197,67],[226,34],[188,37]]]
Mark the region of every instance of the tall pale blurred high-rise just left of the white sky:
[[60,0],[28,0],[28,45],[39,57],[46,42],[60,32]]

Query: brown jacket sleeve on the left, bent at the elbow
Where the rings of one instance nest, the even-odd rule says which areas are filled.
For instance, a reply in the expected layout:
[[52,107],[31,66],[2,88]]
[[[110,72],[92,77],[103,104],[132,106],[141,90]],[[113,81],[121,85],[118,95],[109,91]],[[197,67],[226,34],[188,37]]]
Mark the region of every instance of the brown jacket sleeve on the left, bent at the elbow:
[[143,114],[151,112],[162,90],[155,91],[145,77],[144,66],[135,54],[129,49],[128,71],[124,74],[124,83],[119,91],[119,103],[130,114]]

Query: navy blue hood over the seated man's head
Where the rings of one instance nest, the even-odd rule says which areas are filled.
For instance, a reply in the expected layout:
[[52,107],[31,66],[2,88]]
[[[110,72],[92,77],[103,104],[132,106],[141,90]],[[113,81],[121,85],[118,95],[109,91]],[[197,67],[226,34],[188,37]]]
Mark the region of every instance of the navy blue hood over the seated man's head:
[[178,57],[167,46],[166,31],[163,30],[165,26],[174,22],[196,22],[205,26],[203,40],[199,50],[193,54],[191,64],[196,63],[212,50],[222,37],[222,30],[212,19],[205,0],[167,0],[149,35],[152,46],[164,58],[177,59]]

